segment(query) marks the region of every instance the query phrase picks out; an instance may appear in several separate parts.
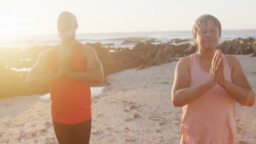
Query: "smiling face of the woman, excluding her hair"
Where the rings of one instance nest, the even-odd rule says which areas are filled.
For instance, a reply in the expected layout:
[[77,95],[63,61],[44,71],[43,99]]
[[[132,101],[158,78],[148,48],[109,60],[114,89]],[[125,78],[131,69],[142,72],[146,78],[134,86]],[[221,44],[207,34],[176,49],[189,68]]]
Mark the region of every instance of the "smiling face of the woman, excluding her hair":
[[198,29],[195,39],[199,49],[215,50],[219,43],[219,29],[212,20],[203,23]]

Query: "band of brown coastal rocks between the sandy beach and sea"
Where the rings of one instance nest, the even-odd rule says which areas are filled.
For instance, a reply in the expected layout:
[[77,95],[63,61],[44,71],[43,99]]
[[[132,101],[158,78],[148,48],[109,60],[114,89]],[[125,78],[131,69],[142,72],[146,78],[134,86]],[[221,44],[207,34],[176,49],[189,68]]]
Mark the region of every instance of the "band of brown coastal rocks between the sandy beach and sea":
[[[178,61],[178,57],[189,56],[195,53],[197,44],[173,45],[152,44],[154,39],[137,43],[130,48],[106,48],[101,43],[85,45],[91,46],[97,52],[104,75],[117,73],[118,71],[137,68],[138,70],[153,67],[167,62]],[[0,49],[0,98],[14,97],[18,95],[44,94],[49,92],[48,86],[29,86],[25,83],[27,71],[15,71],[11,68],[31,68],[37,61],[39,54],[56,46],[33,46],[27,49],[8,48]],[[237,38],[223,41],[219,44],[224,54],[256,56],[256,40]]]

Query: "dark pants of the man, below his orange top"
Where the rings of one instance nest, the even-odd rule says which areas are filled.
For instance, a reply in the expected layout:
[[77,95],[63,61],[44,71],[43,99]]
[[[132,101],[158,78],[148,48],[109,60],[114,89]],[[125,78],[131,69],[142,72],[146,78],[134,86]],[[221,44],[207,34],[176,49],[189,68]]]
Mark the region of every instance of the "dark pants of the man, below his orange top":
[[55,135],[60,144],[89,144],[91,135],[91,118],[77,124],[53,122]]

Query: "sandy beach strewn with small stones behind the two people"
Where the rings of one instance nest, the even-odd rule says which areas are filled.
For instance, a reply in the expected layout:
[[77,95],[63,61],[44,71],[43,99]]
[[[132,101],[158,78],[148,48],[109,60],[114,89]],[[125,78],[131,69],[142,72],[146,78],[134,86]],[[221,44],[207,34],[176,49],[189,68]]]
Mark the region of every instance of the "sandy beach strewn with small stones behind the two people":
[[[236,55],[256,92],[256,57]],[[92,95],[90,143],[179,143],[182,107],[171,103],[177,61],[106,77]],[[15,90],[14,90],[15,91]],[[0,99],[0,143],[57,143],[50,99]],[[236,104],[236,143],[256,143],[256,105]]]

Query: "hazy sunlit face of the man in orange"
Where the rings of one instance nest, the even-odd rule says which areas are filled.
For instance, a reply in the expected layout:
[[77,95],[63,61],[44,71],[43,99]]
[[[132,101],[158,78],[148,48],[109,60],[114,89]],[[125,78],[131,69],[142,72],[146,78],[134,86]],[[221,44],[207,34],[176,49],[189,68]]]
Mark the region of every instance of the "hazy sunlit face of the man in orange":
[[77,30],[77,21],[70,15],[60,15],[57,22],[57,29],[60,39],[72,39]]

